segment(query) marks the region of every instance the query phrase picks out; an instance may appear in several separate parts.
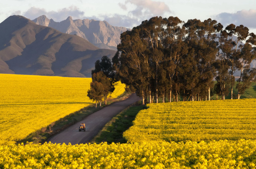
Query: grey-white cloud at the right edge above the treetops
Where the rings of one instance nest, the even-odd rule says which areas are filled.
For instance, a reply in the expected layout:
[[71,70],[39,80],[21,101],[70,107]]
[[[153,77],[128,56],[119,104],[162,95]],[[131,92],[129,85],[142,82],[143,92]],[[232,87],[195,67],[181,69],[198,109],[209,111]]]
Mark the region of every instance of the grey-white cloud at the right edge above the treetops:
[[235,25],[244,25],[248,28],[256,28],[256,10],[241,10],[236,13],[220,13],[216,16],[216,19],[223,25],[229,25],[231,23]]

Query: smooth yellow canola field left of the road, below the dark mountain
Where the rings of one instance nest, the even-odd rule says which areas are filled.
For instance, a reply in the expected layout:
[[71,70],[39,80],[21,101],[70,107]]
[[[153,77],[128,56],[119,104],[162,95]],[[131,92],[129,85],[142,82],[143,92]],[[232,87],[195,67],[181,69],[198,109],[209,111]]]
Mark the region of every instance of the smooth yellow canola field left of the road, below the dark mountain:
[[[0,144],[30,133],[92,104],[91,78],[0,74]],[[124,92],[118,83],[112,97]]]

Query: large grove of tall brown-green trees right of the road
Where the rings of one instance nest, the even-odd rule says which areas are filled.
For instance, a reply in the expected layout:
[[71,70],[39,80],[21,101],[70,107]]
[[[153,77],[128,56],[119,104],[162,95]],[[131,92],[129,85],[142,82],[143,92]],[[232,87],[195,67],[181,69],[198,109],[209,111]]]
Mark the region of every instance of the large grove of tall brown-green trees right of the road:
[[163,102],[180,96],[210,100],[214,92],[225,99],[236,71],[241,71],[236,86],[240,95],[255,79],[249,67],[256,58],[255,42],[256,36],[243,25],[230,24],[223,30],[216,20],[185,23],[156,16],[121,34],[112,67],[116,79],[134,88],[143,104],[157,103],[159,97]]

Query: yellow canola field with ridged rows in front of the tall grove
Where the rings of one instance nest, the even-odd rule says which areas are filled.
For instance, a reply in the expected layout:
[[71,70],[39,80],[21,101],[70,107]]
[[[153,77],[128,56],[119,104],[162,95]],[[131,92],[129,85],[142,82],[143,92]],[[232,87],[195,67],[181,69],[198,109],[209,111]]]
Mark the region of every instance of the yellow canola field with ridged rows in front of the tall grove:
[[256,139],[256,99],[152,103],[123,136],[132,142]]

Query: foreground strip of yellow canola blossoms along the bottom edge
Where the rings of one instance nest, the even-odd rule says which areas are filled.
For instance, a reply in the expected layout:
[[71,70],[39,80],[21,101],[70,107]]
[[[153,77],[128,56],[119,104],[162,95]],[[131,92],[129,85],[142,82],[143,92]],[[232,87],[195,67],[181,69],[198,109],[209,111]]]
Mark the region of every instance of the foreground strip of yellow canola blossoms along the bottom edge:
[[256,141],[0,146],[0,168],[242,169],[255,168]]

